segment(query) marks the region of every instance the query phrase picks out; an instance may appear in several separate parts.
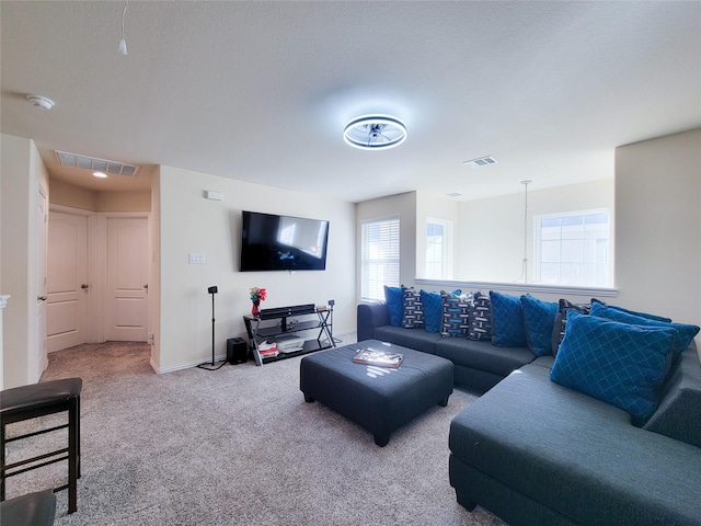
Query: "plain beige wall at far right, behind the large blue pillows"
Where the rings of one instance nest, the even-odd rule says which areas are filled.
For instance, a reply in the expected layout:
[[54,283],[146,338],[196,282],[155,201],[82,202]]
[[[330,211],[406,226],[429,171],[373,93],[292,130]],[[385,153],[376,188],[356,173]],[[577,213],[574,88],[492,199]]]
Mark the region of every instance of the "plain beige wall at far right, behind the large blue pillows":
[[617,148],[616,215],[618,301],[701,324],[701,129]]

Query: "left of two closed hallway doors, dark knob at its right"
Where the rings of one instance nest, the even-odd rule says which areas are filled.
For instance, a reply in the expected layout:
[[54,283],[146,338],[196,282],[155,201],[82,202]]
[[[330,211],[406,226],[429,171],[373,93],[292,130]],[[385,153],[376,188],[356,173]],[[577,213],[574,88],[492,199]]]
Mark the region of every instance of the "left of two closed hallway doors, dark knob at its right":
[[88,341],[88,217],[51,210],[48,222],[48,352]]

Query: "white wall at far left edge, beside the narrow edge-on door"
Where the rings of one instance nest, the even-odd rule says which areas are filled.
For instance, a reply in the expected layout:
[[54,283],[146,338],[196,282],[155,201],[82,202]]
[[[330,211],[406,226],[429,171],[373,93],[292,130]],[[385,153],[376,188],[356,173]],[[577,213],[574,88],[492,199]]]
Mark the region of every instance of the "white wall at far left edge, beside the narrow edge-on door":
[[37,206],[39,188],[48,195],[48,174],[32,140],[0,140],[0,290],[12,296],[3,313],[3,386],[11,388],[36,382],[43,373],[35,363]]

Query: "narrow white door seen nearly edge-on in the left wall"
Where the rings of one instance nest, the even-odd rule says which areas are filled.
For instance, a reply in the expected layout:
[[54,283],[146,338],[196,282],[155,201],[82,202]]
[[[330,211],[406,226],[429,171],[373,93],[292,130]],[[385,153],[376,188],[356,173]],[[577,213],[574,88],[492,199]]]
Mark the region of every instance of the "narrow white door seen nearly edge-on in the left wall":
[[[38,381],[48,365],[46,357],[46,245],[48,222],[48,199],[39,190],[36,217],[36,352],[30,371],[32,381]],[[31,353],[32,351],[30,351]],[[31,362],[30,362],[31,363]]]

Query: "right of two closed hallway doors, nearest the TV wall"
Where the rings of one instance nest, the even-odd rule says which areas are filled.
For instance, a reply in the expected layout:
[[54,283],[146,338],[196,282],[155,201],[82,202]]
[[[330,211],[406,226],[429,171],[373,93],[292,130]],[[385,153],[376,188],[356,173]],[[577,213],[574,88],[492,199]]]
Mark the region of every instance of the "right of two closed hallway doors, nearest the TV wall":
[[107,340],[147,340],[148,239],[147,218],[107,218]]

